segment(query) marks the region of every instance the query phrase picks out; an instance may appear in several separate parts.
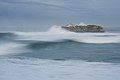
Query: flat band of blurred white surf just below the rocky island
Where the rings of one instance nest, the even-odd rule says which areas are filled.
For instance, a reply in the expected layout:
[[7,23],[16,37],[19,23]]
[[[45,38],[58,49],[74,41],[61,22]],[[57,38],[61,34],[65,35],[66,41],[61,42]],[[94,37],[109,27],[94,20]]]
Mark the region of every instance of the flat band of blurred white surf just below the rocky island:
[[40,34],[40,35],[24,35],[17,40],[23,41],[44,41],[44,42],[64,42],[71,40],[80,43],[120,43],[118,34],[95,34],[95,33],[73,33],[73,34]]

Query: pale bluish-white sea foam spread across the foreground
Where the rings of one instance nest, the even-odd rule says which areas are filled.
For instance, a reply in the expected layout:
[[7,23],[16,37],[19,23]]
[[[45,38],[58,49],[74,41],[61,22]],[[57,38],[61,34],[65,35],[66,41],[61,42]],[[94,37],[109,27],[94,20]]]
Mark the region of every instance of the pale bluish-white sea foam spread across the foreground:
[[120,79],[120,65],[112,65],[109,63],[75,60],[0,59],[0,64],[1,80]]

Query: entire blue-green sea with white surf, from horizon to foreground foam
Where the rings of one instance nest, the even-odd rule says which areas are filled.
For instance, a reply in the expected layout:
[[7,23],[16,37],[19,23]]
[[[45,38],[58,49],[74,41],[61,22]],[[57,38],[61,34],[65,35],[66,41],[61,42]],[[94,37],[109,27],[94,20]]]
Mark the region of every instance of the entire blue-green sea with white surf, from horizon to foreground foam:
[[120,80],[120,33],[0,32],[0,80]]

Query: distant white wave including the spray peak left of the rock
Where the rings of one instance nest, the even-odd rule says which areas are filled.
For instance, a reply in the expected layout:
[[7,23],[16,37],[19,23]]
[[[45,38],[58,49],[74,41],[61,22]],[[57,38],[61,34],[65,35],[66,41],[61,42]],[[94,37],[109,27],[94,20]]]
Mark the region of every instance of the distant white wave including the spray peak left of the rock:
[[0,33],[2,36],[16,35],[15,40],[21,41],[44,41],[64,42],[66,40],[80,43],[120,43],[120,33],[75,33],[62,29],[60,26],[53,26],[46,32],[8,32]]

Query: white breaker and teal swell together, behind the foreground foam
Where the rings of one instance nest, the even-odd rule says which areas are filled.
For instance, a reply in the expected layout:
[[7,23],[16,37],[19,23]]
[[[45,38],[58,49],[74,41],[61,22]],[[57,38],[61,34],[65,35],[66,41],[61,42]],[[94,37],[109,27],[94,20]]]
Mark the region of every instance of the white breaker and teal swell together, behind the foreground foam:
[[0,56],[120,62],[119,43],[120,33],[75,33],[53,26],[45,32],[0,32]]

